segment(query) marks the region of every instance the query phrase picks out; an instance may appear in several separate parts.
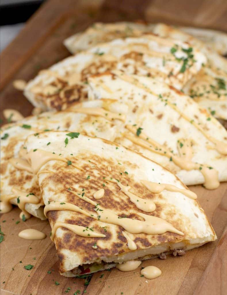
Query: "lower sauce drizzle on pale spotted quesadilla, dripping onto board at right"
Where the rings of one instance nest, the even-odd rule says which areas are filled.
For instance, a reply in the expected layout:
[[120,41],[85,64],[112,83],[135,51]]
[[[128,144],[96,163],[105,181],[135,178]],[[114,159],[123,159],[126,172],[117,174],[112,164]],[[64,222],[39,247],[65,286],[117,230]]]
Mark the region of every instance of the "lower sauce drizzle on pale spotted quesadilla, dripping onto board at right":
[[[126,128],[130,130],[132,133],[136,134],[136,127],[126,125]],[[160,145],[158,142],[148,138],[148,136],[144,132],[140,133],[140,138],[136,138],[135,136],[130,135],[128,136],[127,134],[125,135],[125,137],[130,139],[135,144],[142,146],[143,148],[146,148],[154,153],[158,153],[160,155],[171,158],[173,163],[175,163],[181,169],[185,169],[187,171],[192,169],[199,170],[203,174],[205,180],[204,186],[206,187],[206,189],[216,189],[220,185],[218,181],[218,171],[216,169],[211,168],[208,165],[202,165],[191,161],[193,151],[191,144],[190,142],[188,142],[188,140],[182,140],[184,141],[184,145],[182,148],[180,148],[178,144],[178,151],[180,156],[176,156],[173,153],[171,153],[168,149],[166,149],[163,145]],[[148,143],[150,143],[151,145],[149,145]]]

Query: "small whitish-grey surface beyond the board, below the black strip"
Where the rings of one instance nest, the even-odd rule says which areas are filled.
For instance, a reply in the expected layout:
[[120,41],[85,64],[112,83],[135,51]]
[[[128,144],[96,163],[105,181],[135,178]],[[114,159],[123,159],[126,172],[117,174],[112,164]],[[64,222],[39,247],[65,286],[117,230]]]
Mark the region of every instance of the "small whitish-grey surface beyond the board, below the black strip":
[[24,27],[24,23],[0,27],[0,51],[2,51]]

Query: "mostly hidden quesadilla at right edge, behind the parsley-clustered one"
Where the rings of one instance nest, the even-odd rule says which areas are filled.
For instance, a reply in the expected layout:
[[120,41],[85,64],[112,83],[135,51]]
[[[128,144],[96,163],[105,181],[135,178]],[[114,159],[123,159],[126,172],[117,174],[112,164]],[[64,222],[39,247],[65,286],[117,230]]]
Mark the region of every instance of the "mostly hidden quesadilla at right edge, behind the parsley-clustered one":
[[176,38],[190,42],[206,55],[208,63],[183,87],[185,93],[193,97],[201,107],[217,118],[227,119],[227,59],[212,51],[202,41],[165,24],[157,24],[154,33],[166,38]]

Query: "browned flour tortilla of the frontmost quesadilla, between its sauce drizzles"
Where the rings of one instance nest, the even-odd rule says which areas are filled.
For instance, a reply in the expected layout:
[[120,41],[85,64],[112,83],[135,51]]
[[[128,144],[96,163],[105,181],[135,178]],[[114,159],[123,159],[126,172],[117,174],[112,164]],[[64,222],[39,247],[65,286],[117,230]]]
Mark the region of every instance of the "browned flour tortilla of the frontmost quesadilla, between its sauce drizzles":
[[[83,199],[87,197],[99,203],[104,211],[109,209],[119,217],[142,220],[138,214],[143,211],[129,201],[117,183],[105,180],[105,177],[112,177],[121,181],[123,185],[129,184],[133,194],[152,199],[156,204],[156,210],[146,214],[165,219],[182,231],[184,236],[172,232],[160,235],[129,234],[137,245],[137,249],[132,251],[129,250],[127,240],[122,235],[121,226],[101,222],[78,212],[49,211],[47,216],[52,228],[56,222],[65,222],[87,227],[88,233],[92,229],[106,235],[102,238],[82,237],[64,227],[59,227],[54,242],[60,260],[60,273],[63,276],[73,277],[92,273],[114,267],[124,261],[150,259],[163,252],[170,254],[174,249],[189,250],[216,240],[213,228],[196,200],[167,190],[153,194],[140,182],[148,180],[169,183],[186,189],[170,171],[138,153],[107,140],[79,135],[78,138],[69,140],[65,147],[65,138],[66,132],[48,132],[48,137],[45,133],[40,134],[39,139],[29,136],[25,142],[28,151],[37,148],[52,152],[50,146],[46,145],[46,141],[49,140],[53,143],[56,154],[61,153],[63,157],[70,157],[72,163],[84,169],[80,171],[73,165],[67,166],[61,160],[51,160],[43,164],[39,172],[52,171],[38,175],[45,205],[53,201],[60,201],[62,204],[69,202],[93,216],[92,214],[96,214],[94,206]],[[108,167],[111,167],[111,171]],[[102,199],[95,200],[93,194],[101,188],[104,188],[105,194]],[[72,194],[71,191],[75,191],[76,194]],[[83,192],[80,199],[78,195]],[[94,245],[97,249],[92,248]]]

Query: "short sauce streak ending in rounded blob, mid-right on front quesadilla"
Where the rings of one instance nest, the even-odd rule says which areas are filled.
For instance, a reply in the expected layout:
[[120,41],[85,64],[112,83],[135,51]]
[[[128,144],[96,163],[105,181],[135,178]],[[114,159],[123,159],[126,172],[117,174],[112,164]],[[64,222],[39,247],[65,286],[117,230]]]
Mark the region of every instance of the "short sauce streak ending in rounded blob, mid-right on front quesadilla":
[[105,181],[110,181],[110,182],[114,182],[117,183],[117,185],[120,187],[121,191],[126,194],[126,196],[129,197],[130,201],[135,204],[135,206],[144,211],[144,212],[153,212],[155,211],[155,203],[151,200],[148,199],[142,199],[140,197],[137,197],[136,195],[130,193],[130,186],[124,186],[123,184],[120,183],[120,181],[117,181],[116,179],[113,178],[105,178]]

